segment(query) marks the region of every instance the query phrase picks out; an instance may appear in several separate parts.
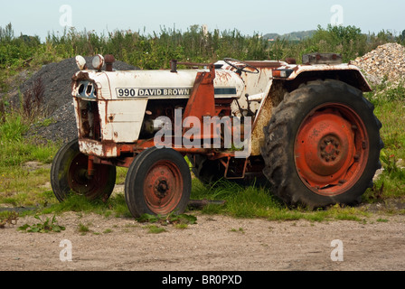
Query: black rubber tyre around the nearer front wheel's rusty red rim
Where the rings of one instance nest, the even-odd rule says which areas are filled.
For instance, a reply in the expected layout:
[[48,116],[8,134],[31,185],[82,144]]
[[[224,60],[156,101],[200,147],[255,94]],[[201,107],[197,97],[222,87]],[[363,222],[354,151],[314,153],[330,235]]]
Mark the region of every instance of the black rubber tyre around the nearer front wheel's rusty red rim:
[[[172,163],[179,172],[179,177],[182,178],[183,190],[179,201],[174,208],[169,210],[154,210],[146,201],[144,186],[147,174],[155,163],[167,161]],[[192,190],[192,179],[188,163],[184,160],[184,156],[170,148],[152,147],[141,154],[138,154],[134,162],[131,163],[127,172],[125,182],[125,198],[127,201],[128,210],[132,216],[138,218],[143,214],[150,215],[168,215],[170,213],[182,214],[187,209]]]

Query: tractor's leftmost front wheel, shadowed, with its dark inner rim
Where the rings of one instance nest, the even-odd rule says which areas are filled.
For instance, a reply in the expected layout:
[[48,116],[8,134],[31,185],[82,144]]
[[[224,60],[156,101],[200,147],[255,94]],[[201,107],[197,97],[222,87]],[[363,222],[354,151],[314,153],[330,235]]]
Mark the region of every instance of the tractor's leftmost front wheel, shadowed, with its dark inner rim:
[[94,163],[94,173],[89,176],[88,164],[89,156],[80,153],[77,139],[61,147],[51,168],[51,184],[56,199],[63,201],[70,192],[74,192],[89,200],[108,200],[116,183],[116,167]]

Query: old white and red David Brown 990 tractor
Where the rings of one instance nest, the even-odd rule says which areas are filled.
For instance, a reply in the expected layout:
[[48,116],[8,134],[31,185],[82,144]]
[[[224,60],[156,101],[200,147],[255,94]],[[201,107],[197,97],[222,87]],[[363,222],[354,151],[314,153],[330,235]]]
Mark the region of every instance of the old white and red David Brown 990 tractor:
[[[171,61],[168,70],[114,70],[81,56],[71,96],[78,138],[52,163],[52,190],[108,200],[117,167],[134,217],[182,213],[192,172],[264,183],[288,206],[361,202],[381,168],[381,122],[362,72],[342,56],[285,61]],[[188,159],[188,162],[187,162]]]

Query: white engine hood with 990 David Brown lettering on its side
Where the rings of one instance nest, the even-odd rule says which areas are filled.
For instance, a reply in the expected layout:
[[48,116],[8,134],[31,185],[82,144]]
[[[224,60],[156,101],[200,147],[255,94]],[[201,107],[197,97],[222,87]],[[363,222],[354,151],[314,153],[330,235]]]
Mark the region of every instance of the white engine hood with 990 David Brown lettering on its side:
[[[72,96],[91,99],[189,98],[198,72],[209,70],[81,70],[72,80]],[[230,70],[215,70],[215,98],[240,98],[245,84]]]

